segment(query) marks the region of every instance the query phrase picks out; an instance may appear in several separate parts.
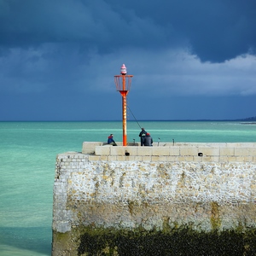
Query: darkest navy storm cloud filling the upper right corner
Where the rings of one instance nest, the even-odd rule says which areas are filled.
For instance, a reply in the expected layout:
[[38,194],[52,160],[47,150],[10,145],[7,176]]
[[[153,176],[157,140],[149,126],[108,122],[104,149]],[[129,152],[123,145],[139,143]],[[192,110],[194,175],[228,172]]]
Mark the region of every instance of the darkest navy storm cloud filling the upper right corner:
[[249,50],[255,53],[254,0],[124,3],[124,8],[133,6],[136,6],[134,12],[138,17],[152,18],[157,26],[165,27],[169,44],[177,38],[176,43],[187,40],[189,47],[202,61],[225,61]]

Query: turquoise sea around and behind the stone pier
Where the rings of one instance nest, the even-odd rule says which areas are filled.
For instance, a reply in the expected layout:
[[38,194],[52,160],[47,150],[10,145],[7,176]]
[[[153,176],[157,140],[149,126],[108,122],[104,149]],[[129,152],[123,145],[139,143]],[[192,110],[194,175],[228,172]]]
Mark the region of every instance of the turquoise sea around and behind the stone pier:
[[[256,125],[235,121],[128,121],[128,142],[140,127],[154,142],[256,142]],[[121,121],[0,122],[0,255],[50,255],[56,155],[122,132]]]

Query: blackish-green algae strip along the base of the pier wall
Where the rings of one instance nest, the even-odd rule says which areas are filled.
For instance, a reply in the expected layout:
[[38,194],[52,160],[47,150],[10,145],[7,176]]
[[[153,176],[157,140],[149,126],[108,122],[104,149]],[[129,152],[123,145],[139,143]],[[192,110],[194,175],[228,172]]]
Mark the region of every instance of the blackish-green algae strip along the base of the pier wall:
[[183,229],[170,233],[157,230],[87,228],[78,249],[70,255],[256,255],[256,230],[245,233],[196,232]]

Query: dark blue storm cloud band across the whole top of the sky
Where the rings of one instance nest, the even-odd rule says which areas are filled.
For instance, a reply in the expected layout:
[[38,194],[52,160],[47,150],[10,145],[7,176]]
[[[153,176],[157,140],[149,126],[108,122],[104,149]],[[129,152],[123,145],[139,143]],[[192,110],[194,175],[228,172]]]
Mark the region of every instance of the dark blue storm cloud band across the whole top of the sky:
[[1,45],[78,42],[100,52],[187,46],[202,61],[254,52],[256,2],[0,1]]

